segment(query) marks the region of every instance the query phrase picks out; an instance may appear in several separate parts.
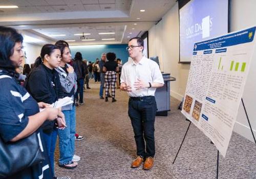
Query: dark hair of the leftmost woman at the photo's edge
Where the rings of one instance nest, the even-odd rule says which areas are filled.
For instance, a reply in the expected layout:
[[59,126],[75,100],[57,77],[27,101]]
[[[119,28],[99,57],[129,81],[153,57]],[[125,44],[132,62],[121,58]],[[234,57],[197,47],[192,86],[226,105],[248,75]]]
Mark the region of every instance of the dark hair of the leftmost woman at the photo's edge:
[[0,26],[0,68],[7,70],[10,75],[16,76],[16,66],[10,60],[16,42],[23,42],[23,36],[15,29]]

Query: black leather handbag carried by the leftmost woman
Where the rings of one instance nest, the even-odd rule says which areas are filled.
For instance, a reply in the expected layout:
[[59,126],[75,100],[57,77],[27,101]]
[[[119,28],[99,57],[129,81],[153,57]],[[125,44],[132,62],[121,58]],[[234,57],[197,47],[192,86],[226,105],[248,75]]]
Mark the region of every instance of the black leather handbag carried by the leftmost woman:
[[0,137],[0,178],[5,178],[45,160],[40,133],[34,132],[17,142],[5,143]]

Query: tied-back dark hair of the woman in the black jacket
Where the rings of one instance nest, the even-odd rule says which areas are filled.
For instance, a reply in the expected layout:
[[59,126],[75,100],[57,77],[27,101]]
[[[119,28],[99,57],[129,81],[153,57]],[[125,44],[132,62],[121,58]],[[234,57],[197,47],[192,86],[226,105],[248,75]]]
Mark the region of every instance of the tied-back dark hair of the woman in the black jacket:
[[35,63],[33,64],[33,69],[37,68],[44,60],[45,55],[51,55],[55,49],[59,49],[54,44],[45,44],[42,46],[40,56],[36,58]]

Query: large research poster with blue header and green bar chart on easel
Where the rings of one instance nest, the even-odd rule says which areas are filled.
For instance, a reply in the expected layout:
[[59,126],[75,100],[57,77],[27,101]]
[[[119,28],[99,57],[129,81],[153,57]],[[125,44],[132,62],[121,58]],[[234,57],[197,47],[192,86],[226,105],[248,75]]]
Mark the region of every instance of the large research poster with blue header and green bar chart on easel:
[[255,51],[254,34],[252,27],[194,44],[181,112],[224,157]]

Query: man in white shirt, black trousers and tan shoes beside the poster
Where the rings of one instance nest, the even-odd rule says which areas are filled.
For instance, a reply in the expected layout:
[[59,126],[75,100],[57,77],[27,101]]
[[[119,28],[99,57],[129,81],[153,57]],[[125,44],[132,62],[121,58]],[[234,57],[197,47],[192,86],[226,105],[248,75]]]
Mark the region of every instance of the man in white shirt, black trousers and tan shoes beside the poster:
[[120,89],[130,96],[128,114],[138,155],[131,167],[137,168],[144,161],[143,169],[149,170],[154,165],[155,155],[155,91],[164,85],[164,81],[158,64],[143,56],[140,37],[130,39],[127,50],[132,60],[123,65]]

